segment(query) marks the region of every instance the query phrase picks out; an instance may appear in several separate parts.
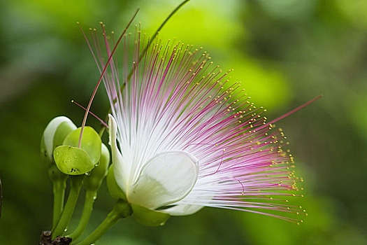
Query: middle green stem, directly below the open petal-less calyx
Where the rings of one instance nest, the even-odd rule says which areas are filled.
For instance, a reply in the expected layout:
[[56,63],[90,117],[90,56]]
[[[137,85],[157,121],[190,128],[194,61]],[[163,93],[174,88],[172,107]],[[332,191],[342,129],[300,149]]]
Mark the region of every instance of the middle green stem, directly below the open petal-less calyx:
[[64,210],[62,211],[62,215],[59,218],[59,222],[56,227],[52,230],[52,237],[61,236],[64,234],[64,230],[69,225],[71,216],[73,216],[73,212],[75,209],[75,204],[78,201],[80,189],[82,188],[82,181],[85,175],[77,175],[71,176],[70,181],[70,193],[68,200],[66,201]]

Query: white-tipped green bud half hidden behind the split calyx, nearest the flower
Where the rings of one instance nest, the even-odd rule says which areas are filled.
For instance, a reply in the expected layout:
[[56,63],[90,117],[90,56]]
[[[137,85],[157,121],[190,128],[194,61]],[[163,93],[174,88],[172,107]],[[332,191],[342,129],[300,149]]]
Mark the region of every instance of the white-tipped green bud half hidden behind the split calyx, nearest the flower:
[[96,165],[92,172],[84,180],[84,188],[87,191],[97,191],[102,184],[104,177],[108,172],[110,165],[110,152],[105,144],[102,144],[101,159],[99,165]]

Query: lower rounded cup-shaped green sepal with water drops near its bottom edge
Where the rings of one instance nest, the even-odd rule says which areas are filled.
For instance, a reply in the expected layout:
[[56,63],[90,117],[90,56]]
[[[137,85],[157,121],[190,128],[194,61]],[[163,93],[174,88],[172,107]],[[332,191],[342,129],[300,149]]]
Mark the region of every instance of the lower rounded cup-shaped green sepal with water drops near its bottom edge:
[[64,174],[80,175],[94,168],[89,154],[73,146],[58,146],[54,151],[54,159],[57,167]]

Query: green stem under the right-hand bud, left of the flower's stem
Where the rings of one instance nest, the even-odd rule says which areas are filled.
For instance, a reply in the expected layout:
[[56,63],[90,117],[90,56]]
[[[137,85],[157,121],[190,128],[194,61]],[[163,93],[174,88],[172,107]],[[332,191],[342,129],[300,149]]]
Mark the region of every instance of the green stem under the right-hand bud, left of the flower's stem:
[[84,202],[84,209],[82,211],[82,218],[80,218],[79,225],[74,230],[74,232],[71,233],[71,235],[68,235],[68,237],[71,237],[73,241],[78,239],[78,237],[82,235],[82,232],[87,227],[90,215],[92,214],[93,204],[94,200],[96,199],[96,196],[97,196],[96,191],[87,191],[85,193],[85,202]]

